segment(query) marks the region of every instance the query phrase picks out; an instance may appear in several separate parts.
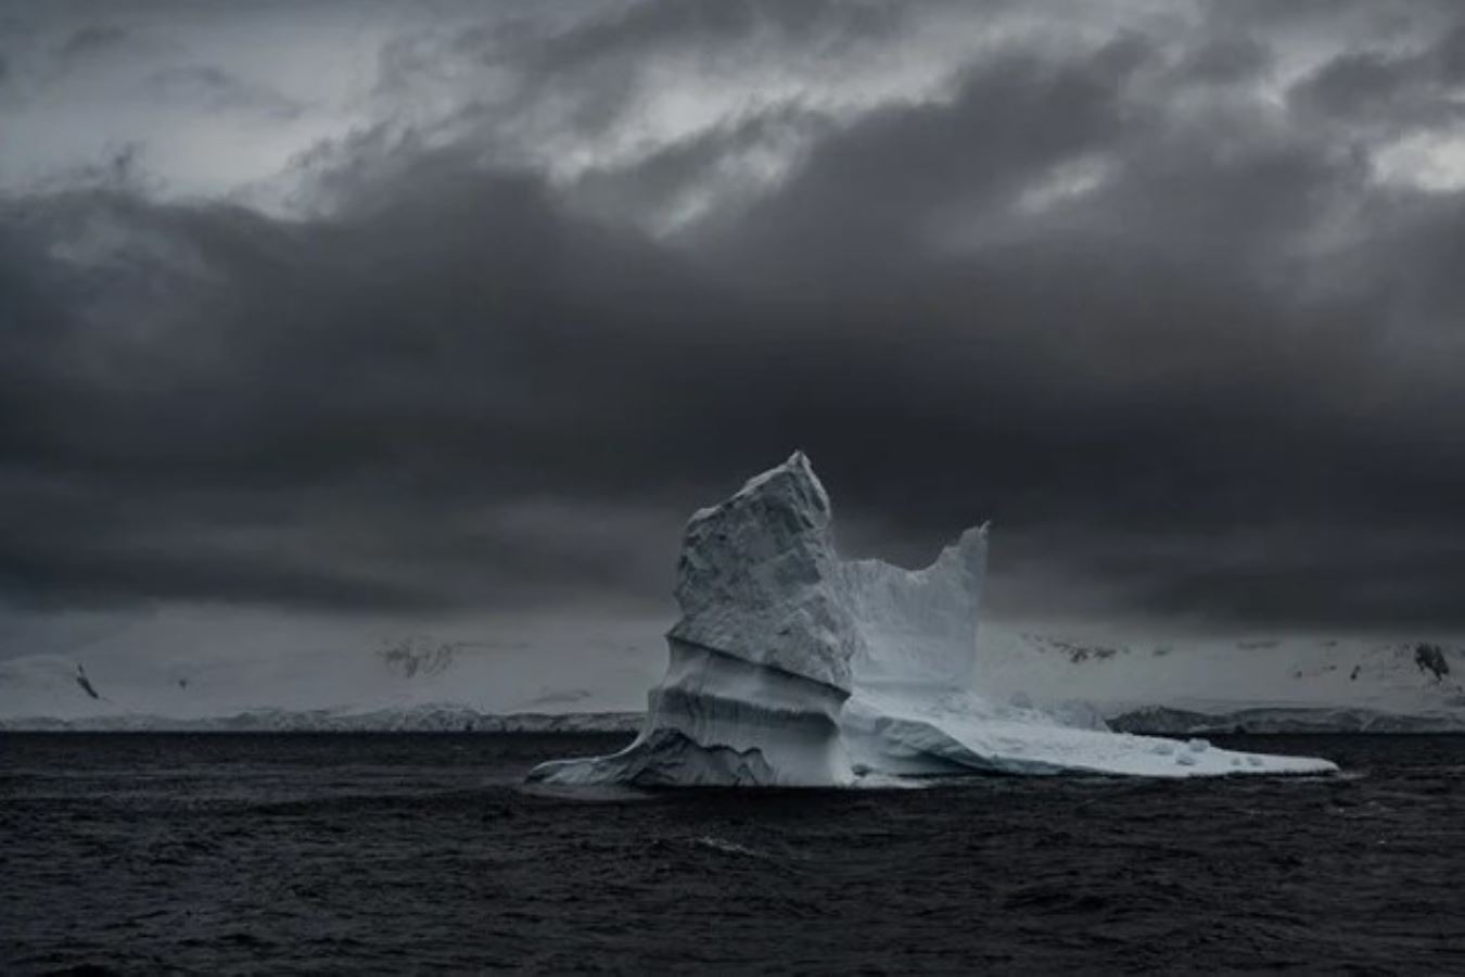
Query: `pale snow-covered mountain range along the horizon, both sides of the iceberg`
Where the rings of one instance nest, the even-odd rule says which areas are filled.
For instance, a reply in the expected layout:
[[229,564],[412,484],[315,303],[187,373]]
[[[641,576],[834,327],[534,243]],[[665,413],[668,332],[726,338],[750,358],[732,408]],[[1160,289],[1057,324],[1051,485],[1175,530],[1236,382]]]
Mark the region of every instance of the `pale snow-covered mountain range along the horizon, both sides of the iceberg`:
[[[1153,732],[1465,731],[1465,646],[1367,639],[1124,643],[987,625],[977,688]],[[574,653],[409,637],[375,649],[0,661],[0,729],[628,731],[655,634]]]

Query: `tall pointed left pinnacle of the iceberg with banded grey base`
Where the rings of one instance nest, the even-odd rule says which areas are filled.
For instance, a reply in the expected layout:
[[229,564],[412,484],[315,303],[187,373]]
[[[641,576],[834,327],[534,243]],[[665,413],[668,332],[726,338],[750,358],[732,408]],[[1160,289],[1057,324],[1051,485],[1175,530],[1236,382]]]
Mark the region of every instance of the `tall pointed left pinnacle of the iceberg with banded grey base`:
[[839,713],[864,650],[829,538],[829,497],[803,454],[691,517],[681,620],[646,725],[609,757],[545,763],[555,782],[844,784]]

